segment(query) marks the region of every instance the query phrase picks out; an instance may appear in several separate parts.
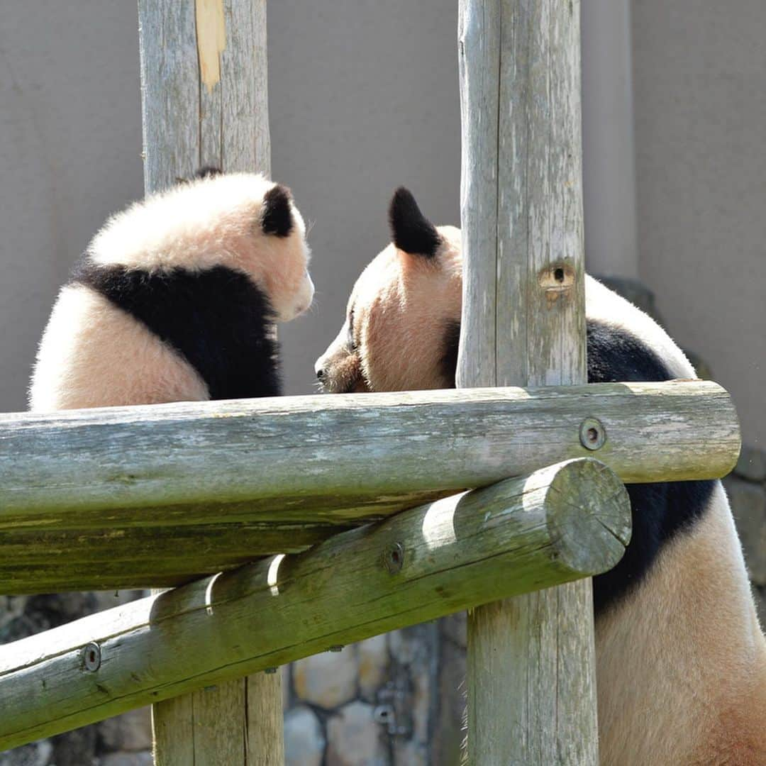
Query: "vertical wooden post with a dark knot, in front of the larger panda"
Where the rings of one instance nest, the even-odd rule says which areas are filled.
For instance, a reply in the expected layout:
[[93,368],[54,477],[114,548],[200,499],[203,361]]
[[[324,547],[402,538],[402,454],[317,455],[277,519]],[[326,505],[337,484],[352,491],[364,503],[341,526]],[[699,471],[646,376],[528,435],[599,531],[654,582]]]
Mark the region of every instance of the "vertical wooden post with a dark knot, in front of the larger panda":
[[[457,382],[586,381],[579,0],[460,0]],[[532,447],[531,447],[532,448]],[[598,761],[591,581],[474,610],[470,763]]]

